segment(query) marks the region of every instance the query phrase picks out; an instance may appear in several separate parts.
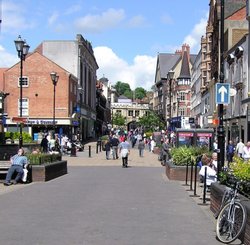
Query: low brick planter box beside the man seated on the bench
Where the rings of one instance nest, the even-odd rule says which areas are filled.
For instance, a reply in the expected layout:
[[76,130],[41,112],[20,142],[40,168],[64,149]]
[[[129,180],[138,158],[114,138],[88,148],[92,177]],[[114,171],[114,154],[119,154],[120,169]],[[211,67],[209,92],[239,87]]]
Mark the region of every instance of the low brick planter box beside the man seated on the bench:
[[30,165],[32,182],[49,181],[68,173],[67,161],[58,161],[44,165]]

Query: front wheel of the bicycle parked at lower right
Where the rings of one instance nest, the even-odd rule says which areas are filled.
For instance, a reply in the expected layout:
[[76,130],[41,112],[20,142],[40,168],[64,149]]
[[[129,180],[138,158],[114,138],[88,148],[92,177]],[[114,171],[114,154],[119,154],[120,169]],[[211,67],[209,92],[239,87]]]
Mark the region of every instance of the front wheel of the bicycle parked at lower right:
[[216,236],[223,243],[236,240],[246,225],[246,209],[238,201],[234,205],[227,203],[219,213]]

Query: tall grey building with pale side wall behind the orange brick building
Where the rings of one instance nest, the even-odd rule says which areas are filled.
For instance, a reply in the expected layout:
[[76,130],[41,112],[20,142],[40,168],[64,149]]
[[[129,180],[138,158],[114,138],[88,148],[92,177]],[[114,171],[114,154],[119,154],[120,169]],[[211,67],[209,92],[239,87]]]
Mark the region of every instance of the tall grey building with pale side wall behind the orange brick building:
[[95,137],[98,64],[91,43],[77,34],[76,40],[43,41],[37,50],[77,77],[78,134],[81,140]]

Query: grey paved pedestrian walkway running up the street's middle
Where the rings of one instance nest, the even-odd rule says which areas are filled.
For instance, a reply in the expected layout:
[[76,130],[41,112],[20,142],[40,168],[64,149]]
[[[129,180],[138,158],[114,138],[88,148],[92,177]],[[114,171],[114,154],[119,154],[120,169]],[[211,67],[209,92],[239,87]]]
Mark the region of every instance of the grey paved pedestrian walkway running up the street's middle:
[[145,151],[141,158],[138,149],[132,149],[130,168],[122,169],[121,159],[97,154],[94,142],[77,157],[63,159],[69,167],[65,176],[0,185],[3,244],[220,244],[209,202],[202,205],[201,188],[200,197],[190,197],[184,182],[167,179],[157,155]]

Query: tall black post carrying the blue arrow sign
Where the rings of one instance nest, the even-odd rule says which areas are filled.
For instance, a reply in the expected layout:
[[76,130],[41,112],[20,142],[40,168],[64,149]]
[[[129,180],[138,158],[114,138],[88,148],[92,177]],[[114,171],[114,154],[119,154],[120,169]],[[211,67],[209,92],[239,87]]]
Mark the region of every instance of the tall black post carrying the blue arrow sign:
[[[221,26],[220,26],[220,83],[224,83],[224,0],[221,0]],[[223,104],[218,105],[219,126],[218,135],[218,170],[217,176],[220,178],[220,172],[224,167],[225,160],[225,131],[223,126]]]

